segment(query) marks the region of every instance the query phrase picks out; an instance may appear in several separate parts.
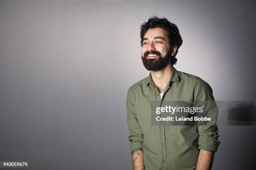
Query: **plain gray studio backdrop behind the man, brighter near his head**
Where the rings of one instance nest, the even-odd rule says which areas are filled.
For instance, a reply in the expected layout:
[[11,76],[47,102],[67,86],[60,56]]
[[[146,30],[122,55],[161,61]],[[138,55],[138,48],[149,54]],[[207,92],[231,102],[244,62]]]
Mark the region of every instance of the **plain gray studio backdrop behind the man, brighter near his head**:
[[[139,26],[152,14],[178,25],[177,70],[216,100],[256,100],[253,0],[1,0],[0,160],[131,170],[126,92],[148,76]],[[213,169],[255,169],[255,132],[220,126]]]

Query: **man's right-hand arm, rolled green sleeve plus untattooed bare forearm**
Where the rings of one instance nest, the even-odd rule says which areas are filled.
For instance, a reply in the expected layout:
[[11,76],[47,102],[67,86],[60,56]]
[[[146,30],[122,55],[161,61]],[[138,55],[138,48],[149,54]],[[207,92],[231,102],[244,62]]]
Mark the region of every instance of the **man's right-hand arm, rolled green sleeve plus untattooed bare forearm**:
[[[213,118],[217,121],[218,117],[218,107],[215,103],[212,89],[206,82],[200,82],[195,89],[195,101],[207,101],[208,105],[204,108],[205,114],[208,117]],[[200,102],[197,102],[200,104]],[[202,124],[198,128],[198,149],[200,149],[198,160],[197,160],[197,170],[210,170],[212,168],[214,153],[217,151],[220,142],[218,141],[218,127],[213,124],[207,123]]]

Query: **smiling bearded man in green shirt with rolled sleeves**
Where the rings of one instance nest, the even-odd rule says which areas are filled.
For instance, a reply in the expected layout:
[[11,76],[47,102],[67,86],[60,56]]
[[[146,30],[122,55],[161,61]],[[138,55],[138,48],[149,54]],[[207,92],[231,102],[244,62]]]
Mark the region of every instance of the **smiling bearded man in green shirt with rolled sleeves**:
[[214,101],[199,77],[173,65],[182,45],[177,26],[156,16],[141,25],[147,78],[128,90],[126,110],[134,170],[210,170],[217,151],[217,126],[152,126],[151,101]]

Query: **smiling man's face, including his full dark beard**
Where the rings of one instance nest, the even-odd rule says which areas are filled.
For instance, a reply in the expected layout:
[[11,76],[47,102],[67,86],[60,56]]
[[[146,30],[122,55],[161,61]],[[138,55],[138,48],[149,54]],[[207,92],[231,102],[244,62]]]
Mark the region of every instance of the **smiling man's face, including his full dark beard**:
[[143,65],[149,71],[159,71],[164,69],[171,55],[169,37],[164,28],[150,28],[145,33],[142,40]]

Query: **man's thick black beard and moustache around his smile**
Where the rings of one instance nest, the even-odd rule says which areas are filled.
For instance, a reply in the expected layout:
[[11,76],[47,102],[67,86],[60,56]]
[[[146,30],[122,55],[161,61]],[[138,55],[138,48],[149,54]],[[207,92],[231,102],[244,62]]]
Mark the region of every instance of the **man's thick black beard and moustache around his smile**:
[[[147,58],[148,54],[156,54],[158,58]],[[148,71],[159,71],[161,69],[164,69],[168,65],[170,58],[170,52],[162,57],[161,53],[159,53],[158,51],[147,51],[146,53],[144,53],[144,56],[141,56],[143,65]]]

